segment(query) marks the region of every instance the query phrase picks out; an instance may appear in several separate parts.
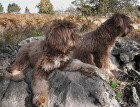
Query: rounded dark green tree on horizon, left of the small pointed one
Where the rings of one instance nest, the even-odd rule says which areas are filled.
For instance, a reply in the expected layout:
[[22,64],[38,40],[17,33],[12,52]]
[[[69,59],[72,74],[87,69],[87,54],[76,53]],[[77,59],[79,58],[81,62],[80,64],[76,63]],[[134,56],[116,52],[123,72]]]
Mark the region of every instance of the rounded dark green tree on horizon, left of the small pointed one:
[[17,4],[12,3],[12,4],[8,5],[7,12],[8,13],[18,13],[20,11],[20,9],[21,8]]

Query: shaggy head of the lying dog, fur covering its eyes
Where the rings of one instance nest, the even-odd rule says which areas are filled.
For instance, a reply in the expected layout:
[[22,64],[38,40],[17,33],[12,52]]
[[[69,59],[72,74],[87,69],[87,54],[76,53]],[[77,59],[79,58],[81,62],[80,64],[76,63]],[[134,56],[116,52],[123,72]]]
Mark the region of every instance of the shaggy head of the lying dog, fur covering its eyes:
[[74,48],[80,37],[76,34],[77,24],[68,20],[55,20],[46,36],[47,43],[55,50],[66,53]]

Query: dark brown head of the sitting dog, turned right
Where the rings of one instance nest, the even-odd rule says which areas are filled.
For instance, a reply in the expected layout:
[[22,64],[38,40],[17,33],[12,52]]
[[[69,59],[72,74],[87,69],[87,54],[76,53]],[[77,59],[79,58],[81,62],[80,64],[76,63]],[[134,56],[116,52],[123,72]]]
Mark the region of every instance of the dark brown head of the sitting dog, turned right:
[[114,14],[110,19],[109,22],[111,23],[111,27],[113,27],[113,30],[118,31],[121,35],[121,37],[126,36],[129,32],[132,31],[132,20],[120,13]]

